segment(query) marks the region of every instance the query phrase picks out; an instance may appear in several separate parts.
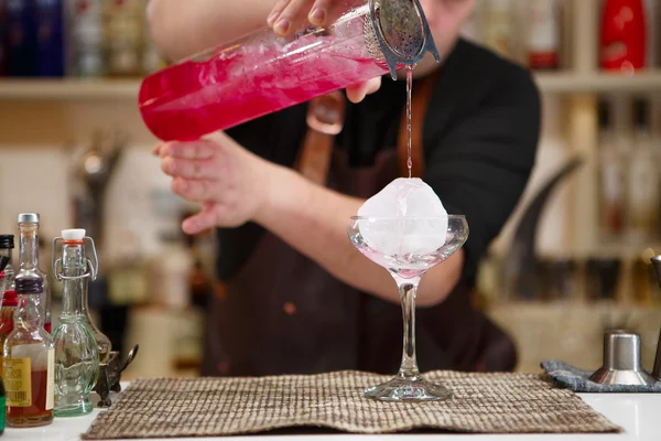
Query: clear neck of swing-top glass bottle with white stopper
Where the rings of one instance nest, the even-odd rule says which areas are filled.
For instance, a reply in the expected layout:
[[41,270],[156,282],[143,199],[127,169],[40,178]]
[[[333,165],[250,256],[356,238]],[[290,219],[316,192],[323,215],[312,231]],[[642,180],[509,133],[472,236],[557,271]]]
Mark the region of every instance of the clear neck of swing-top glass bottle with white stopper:
[[62,315],[84,315],[87,312],[87,279],[82,276],[87,270],[87,259],[83,244],[62,246],[62,275],[75,279],[64,279],[62,291]]

